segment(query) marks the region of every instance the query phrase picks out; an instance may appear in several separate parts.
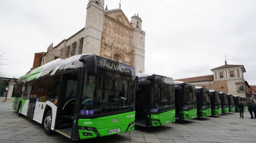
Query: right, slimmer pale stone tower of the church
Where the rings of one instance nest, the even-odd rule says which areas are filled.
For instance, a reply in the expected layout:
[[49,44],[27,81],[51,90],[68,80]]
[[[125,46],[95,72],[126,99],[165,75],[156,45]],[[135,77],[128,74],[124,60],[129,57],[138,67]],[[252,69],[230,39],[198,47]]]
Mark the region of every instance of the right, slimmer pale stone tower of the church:
[[142,19],[139,14],[131,17],[133,25],[133,44],[136,73],[145,72],[145,32],[142,30]]

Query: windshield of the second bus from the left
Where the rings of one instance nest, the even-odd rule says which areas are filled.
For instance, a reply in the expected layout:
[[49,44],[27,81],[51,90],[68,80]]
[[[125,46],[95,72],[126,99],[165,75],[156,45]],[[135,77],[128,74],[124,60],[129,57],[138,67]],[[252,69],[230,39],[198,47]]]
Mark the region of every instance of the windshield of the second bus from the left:
[[173,85],[164,84],[163,90],[158,88],[158,85],[152,84],[152,108],[157,109],[158,112],[165,108],[175,108]]

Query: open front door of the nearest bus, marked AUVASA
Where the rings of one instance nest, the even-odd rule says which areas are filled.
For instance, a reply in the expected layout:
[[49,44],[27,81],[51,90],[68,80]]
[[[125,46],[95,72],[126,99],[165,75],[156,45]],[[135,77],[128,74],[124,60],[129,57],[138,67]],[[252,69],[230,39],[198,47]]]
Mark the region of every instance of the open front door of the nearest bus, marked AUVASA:
[[58,99],[56,131],[68,138],[72,135],[76,97],[78,97],[78,75],[77,70],[63,74],[61,94]]

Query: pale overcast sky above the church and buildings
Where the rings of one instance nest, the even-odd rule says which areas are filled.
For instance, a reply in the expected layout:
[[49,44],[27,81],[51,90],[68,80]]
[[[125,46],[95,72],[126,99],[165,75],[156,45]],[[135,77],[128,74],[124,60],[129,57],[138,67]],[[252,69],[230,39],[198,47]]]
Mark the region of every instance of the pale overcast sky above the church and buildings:
[[[25,75],[34,53],[46,52],[85,26],[88,0],[2,0],[1,71],[9,78]],[[105,0],[108,10],[119,0]],[[142,17],[146,32],[146,73],[173,79],[212,75],[225,64],[245,66],[245,80],[256,85],[256,1],[122,0],[129,20]]]

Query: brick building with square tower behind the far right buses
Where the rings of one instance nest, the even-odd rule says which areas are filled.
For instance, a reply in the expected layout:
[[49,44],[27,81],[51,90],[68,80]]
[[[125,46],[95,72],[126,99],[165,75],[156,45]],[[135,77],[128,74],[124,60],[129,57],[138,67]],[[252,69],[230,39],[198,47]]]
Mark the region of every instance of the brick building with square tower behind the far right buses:
[[243,76],[243,73],[246,72],[243,65],[231,65],[225,62],[225,65],[213,68],[211,71],[213,75],[175,79],[175,81],[189,82],[198,87],[204,87],[236,96],[250,96],[250,86]]

